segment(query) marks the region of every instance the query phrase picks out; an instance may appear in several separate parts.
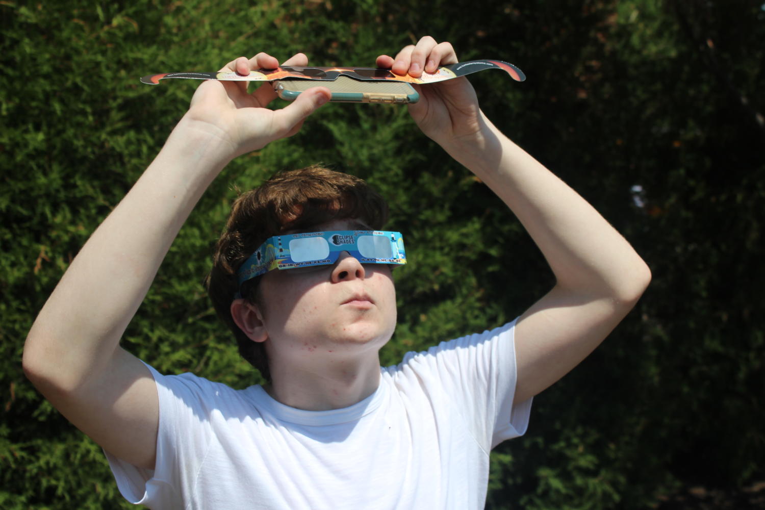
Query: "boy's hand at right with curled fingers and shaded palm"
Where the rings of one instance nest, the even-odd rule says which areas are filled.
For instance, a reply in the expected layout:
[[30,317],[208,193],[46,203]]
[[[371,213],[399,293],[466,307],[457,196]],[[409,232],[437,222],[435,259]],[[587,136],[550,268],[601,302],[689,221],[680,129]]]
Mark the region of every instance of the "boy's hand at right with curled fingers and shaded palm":
[[[416,45],[404,47],[396,58],[388,55],[377,57],[378,67],[391,69],[394,73],[416,78],[423,70],[435,73],[439,66],[457,63],[457,54],[450,43],[438,44],[433,37],[425,36]],[[470,138],[480,138],[482,127],[480,107],[473,86],[464,76],[415,87],[420,100],[409,105],[412,119],[429,138],[444,148],[454,143],[470,143]]]

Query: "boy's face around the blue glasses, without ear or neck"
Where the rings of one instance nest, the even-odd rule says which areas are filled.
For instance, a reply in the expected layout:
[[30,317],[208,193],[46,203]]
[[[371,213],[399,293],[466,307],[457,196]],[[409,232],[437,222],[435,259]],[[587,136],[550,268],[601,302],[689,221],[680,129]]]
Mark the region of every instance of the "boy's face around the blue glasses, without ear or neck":
[[[369,227],[337,219],[311,231],[354,229]],[[334,265],[269,271],[257,292],[272,360],[376,352],[396,327],[390,266],[362,265],[347,252]]]

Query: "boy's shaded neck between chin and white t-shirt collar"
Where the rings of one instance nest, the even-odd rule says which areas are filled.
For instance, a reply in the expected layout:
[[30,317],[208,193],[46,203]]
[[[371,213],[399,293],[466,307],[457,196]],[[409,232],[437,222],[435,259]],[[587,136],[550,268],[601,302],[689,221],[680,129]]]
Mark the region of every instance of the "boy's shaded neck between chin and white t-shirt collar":
[[276,401],[305,411],[350,407],[379,386],[377,352],[363,360],[335,360],[330,366],[271,366],[272,381],[263,386]]

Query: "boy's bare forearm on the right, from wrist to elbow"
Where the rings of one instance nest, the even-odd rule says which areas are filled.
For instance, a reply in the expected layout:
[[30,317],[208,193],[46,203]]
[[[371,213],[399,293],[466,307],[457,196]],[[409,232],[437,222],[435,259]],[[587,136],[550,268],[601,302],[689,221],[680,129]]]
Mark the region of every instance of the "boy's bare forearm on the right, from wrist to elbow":
[[559,289],[624,302],[640,297],[649,271],[630,244],[485,116],[480,137],[446,150],[513,210],[545,255]]

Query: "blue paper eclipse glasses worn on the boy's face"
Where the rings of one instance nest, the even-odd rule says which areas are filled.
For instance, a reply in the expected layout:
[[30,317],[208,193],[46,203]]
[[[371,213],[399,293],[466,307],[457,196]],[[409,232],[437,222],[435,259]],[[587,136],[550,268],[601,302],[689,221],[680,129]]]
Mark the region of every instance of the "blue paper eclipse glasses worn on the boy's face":
[[239,268],[239,286],[274,269],[334,264],[348,252],[362,264],[406,264],[404,240],[399,232],[333,230],[285,234],[266,239]]

